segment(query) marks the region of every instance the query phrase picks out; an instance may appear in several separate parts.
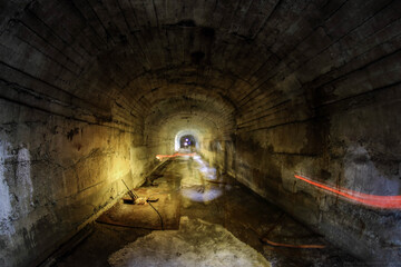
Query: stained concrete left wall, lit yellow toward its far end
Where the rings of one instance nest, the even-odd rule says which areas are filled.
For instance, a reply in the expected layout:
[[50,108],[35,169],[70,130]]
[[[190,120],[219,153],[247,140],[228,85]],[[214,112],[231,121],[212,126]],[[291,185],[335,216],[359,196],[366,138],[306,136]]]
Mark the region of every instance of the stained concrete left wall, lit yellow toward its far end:
[[[9,89],[10,90],[10,89]],[[0,266],[35,266],[151,168],[140,135],[0,100]]]

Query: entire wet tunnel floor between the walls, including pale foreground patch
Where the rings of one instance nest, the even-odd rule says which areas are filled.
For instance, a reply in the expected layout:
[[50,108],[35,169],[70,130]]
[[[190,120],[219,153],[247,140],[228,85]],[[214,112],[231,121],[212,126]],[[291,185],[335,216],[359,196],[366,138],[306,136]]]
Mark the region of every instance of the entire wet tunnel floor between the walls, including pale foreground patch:
[[[153,185],[94,224],[55,266],[364,266],[199,156],[166,161]],[[162,229],[163,222],[163,229]]]

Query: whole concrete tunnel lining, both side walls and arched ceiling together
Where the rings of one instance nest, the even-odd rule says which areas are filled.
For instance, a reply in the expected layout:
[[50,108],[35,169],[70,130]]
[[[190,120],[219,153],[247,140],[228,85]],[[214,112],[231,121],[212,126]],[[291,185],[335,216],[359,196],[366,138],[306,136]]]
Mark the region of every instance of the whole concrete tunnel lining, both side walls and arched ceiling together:
[[[0,0],[0,264],[62,243],[192,134],[228,172],[372,265],[400,209],[401,1]],[[143,175],[140,175],[143,174]]]

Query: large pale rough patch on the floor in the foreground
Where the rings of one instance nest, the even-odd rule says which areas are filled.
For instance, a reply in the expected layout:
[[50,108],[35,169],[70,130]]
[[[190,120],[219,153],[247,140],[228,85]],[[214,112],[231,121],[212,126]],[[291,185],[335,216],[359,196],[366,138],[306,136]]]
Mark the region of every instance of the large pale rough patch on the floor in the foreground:
[[155,230],[116,251],[108,261],[113,267],[271,266],[223,226],[188,217],[182,217],[179,230]]

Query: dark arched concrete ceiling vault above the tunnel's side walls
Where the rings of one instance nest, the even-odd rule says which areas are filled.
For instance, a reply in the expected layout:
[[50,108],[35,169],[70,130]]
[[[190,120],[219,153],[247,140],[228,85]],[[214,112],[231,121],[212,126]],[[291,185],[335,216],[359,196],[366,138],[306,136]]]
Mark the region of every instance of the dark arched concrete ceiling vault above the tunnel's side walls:
[[[399,23],[392,10],[400,8],[390,0],[2,6],[2,82],[126,125],[185,113],[215,125],[228,118],[231,129],[235,119],[237,130],[303,120],[348,97],[348,73],[395,51],[381,37],[397,38],[388,26]],[[346,83],[340,97],[315,97],[339,81]]]

